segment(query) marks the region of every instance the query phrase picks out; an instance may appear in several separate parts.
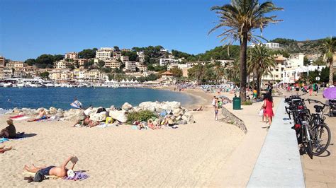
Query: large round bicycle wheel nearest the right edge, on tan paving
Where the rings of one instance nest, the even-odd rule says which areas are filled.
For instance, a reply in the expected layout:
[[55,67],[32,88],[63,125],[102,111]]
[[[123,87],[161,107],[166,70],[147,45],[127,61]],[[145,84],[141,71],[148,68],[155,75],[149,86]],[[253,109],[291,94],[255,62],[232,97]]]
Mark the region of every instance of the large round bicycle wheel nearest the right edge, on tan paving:
[[313,141],[313,155],[321,155],[330,144],[331,132],[327,124],[320,124],[311,131]]

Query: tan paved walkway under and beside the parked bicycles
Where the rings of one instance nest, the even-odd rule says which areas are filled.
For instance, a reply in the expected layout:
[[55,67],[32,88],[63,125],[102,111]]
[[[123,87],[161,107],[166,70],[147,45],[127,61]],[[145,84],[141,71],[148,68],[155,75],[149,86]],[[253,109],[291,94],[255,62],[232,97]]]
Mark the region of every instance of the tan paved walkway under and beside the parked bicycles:
[[[325,101],[323,98],[315,96],[305,96],[305,98],[313,98],[320,101]],[[315,112],[313,105],[306,102],[310,108],[310,112]],[[303,165],[303,173],[305,176],[306,187],[336,187],[336,117],[327,117],[325,122],[330,127],[332,136],[330,146],[323,156],[314,156],[310,159],[308,155],[301,155]]]

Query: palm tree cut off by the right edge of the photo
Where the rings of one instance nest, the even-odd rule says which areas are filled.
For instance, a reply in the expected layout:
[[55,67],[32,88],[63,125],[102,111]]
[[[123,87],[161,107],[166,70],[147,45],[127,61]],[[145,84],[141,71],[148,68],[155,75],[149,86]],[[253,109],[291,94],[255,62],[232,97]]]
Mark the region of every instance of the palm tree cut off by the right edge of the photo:
[[333,56],[335,53],[335,37],[327,37],[323,42],[323,46],[325,47],[325,57],[327,58],[327,63],[329,63],[329,86],[333,84]]

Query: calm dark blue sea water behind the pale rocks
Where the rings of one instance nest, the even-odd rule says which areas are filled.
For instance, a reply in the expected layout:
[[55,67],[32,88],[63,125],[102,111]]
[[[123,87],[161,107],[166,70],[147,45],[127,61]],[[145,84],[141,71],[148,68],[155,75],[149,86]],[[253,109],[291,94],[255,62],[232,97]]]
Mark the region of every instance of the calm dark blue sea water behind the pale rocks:
[[68,110],[77,98],[84,107],[121,107],[124,102],[139,105],[144,101],[179,101],[189,105],[190,95],[150,88],[0,88],[0,114],[14,107],[56,107]]

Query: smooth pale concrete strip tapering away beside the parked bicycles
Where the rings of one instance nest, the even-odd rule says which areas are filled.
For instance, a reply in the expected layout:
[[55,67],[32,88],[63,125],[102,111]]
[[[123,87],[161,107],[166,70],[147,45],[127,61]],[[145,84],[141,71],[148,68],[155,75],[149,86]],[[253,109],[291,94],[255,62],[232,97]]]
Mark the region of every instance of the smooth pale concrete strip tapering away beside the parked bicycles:
[[247,187],[305,187],[293,124],[281,99]]

